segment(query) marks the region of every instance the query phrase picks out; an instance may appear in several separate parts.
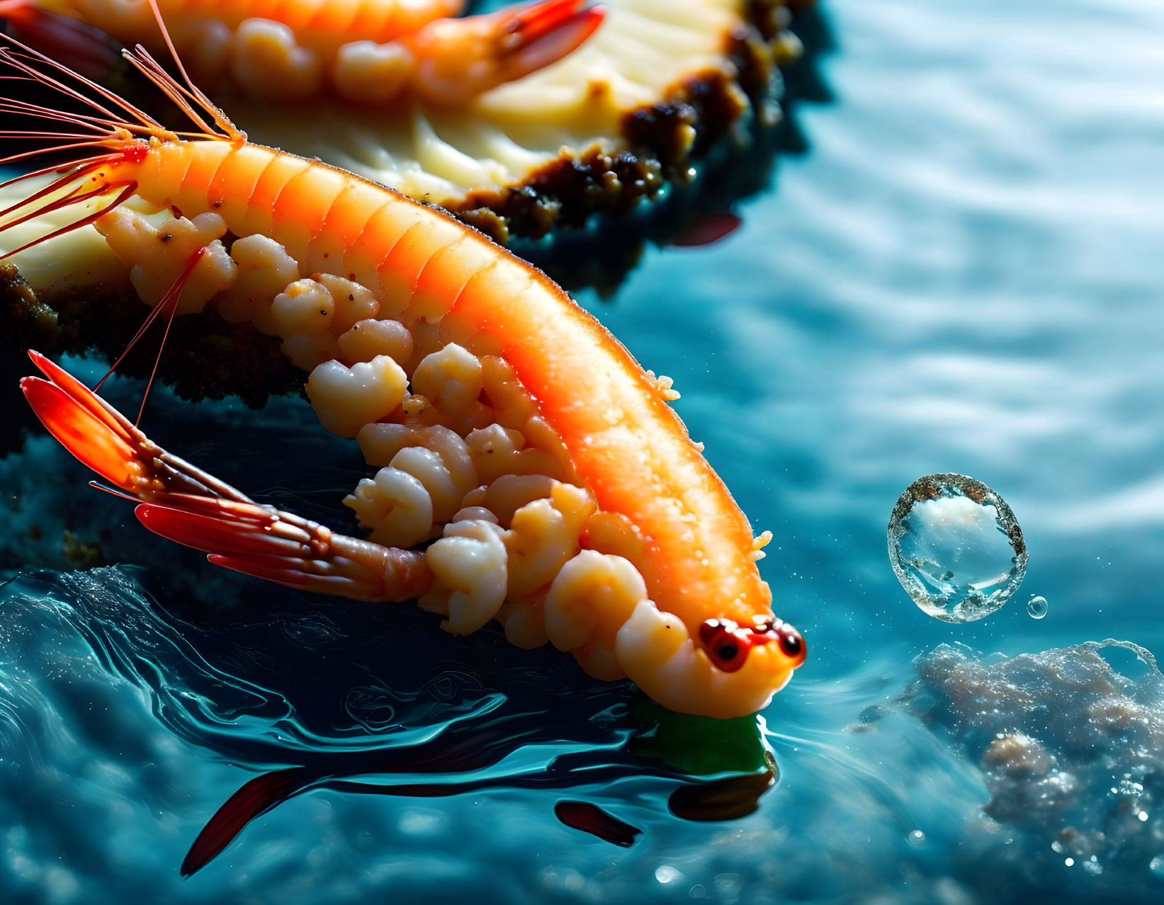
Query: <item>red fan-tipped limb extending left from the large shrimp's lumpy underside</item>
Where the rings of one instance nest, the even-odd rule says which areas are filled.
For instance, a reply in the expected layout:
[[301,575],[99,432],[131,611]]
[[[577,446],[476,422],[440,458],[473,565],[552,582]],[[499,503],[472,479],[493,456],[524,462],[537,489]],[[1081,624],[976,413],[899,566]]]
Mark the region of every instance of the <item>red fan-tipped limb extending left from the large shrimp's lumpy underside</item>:
[[135,514],[155,534],[204,550],[218,565],[305,591],[400,601],[431,590],[424,554],[260,506],[166,452],[40,352],[29,357],[49,378],[26,377],[20,384],[37,418],[80,462],[142,500]]

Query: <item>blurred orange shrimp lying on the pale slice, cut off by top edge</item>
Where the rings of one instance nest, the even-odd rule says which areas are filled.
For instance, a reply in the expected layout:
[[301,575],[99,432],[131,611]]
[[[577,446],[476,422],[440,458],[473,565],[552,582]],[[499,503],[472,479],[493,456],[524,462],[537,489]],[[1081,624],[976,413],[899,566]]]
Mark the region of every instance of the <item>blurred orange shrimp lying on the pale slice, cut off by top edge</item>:
[[[540,0],[450,19],[461,0],[158,0],[177,50],[199,80],[251,97],[301,101],[324,93],[361,106],[414,94],[463,105],[582,44],[605,10],[587,0]],[[164,50],[147,0],[0,0],[0,16],[42,35],[86,22],[119,42]],[[62,49],[87,42],[59,22]]]

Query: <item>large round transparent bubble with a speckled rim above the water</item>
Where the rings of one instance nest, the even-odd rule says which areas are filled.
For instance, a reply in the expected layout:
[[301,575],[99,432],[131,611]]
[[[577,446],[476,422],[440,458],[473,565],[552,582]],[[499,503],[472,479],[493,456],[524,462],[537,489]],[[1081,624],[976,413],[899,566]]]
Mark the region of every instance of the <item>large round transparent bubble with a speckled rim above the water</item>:
[[889,562],[925,613],[970,622],[1002,606],[1027,571],[1027,544],[1010,507],[965,475],[918,478],[893,507]]

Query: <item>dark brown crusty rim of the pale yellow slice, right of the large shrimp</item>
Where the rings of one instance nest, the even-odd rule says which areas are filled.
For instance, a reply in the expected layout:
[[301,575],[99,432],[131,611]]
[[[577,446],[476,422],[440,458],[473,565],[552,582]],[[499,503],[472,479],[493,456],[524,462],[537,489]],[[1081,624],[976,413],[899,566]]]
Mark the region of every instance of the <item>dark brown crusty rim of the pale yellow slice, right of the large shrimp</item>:
[[563,154],[520,184],[469,192],[442,207],[505,244],[580,228],[591,215],[625,216],[667,184],[687,184],[691,165],[731,136],[746,113],[779,117],[773,71],[792,63],[797,47],[781,29],[780,15],[812,1],[747,0],[747,21],[728,40],[726,65],[688,76],[663,100],[627,113],[624,150]]

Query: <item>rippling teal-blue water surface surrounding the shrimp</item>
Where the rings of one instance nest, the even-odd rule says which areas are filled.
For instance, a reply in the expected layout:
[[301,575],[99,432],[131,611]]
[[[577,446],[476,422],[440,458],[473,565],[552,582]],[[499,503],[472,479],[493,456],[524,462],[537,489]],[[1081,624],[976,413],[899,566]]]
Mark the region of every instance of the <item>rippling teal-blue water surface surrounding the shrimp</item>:
[[[1164,742],[1135,735],[1158,691],[1134,651],[1073,648],[1164,650],[1164,9],[828,0],[826,15],[835,101],[797,114],[809,151],[723,243],[651,251],[609,304],[583,297],[675,379],[693,437],[775,535],[761,569],[810,660],[762,720],[704,757],[648,760],[633,696],[554,651],[240,584],[34,442],[0,462],[0,568],[22,571],[0,589],[6,903],[1159,900],[1164,808],[1135,789],[1162,783]],[[335,518],[363,469],[303,407],[163,394],[148,418],[262,499]],[[1001,490],[1053,618],[1012,605],[957,625],[908,603],[886,513],[934,472]],[[139,568],[62,575],[66,527]],[[975,676],[1000,715],[973,694],[953,706]],[[1127,728],[1085,714],[1108,700]],[[1064,808],[1038,807],[1009,749],[984,765],[999,732],[1067,758]],[[449,763],[457,750],[483,762]],[[418,772],[425,753],[440,772]],[[291,769],[303,790],[183,881],[218,808]],[[722,796],[750,813],[672,810],[693,779],[731,777],[753,782]],[[560,801],[640,832],[615,845],[563,824]]]

